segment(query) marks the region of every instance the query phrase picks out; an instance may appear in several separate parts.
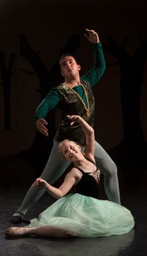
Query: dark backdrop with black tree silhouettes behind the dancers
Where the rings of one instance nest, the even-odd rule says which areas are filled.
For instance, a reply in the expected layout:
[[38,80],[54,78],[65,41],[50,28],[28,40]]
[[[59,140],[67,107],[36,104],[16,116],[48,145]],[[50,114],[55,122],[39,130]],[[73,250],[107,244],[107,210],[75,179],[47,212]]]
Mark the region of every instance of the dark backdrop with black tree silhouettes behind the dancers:
[[88,28],[98,32],[106,61],[94,88],[96,139],[118,165],[123,186],[146,186],[146,5],[146,0],[0,1],[1,185],[30,184],[42,172],[58,118],[48,117],[47,139],[37,133],[34,112],[61,81],[57,60],[63,51],[80,59],[81,75],[92,67],[93,49],[83,36]]

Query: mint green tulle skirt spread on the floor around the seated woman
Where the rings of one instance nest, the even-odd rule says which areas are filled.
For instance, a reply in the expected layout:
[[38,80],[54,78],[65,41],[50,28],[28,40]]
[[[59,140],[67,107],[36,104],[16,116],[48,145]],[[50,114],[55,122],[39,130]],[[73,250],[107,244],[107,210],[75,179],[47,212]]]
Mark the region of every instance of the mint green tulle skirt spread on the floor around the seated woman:
[[135,225],[130,211],[108,200],[69,194],[57,200],[29,227],[48,225],[75,236],[94,238],[129,233]]

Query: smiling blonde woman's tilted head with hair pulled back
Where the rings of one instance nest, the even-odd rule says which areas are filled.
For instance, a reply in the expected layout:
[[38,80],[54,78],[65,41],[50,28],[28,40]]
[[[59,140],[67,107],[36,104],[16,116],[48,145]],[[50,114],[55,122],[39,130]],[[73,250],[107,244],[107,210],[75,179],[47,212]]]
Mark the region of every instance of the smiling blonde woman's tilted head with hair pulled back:
[[73,141],[64,141],[60,148],[61,154],[69,161],[75,162],[81,155],[81,148]]

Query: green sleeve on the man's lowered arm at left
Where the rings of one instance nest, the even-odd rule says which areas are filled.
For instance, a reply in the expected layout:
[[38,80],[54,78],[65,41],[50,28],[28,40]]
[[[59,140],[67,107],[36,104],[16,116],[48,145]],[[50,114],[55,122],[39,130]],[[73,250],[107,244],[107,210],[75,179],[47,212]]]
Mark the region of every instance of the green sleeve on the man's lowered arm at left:
[[50,112],[50,110],[56,108],[59,102],[59,92],[56,89],[50,89],[48,95],[45,97],[45,99],[42,100],[42,102],[37,107],[34,117],[35,121],[37,121],[39,118],[45,118],[47,114]]

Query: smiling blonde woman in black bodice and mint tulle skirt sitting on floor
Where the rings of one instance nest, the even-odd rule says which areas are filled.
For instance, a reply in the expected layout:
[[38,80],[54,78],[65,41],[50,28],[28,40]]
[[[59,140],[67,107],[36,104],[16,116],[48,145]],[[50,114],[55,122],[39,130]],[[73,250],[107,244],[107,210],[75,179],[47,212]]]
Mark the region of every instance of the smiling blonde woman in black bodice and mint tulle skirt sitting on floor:
[[[134,227],[134,219],[127,208],[108,200],[97,199],[99,187],[99,169],[94,159],[94,129],[80,116],[67,116],[72,127],[80,125],[86,135],[86,149],[71,140],[59,144],[61,155],[73,163],[64,183],[56,188],[42,178],[32,185],[44,187],[50,195],[59,198],[37,219],[32,219],[26,227],[10,227],[6,236],[48,236],[71,238],[81,236],[121,235]],[[76,186],[76,193],[70,189]],[[67,195],[67,193],[69,193]]]

